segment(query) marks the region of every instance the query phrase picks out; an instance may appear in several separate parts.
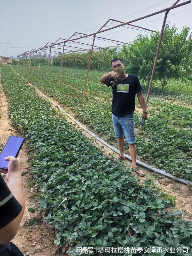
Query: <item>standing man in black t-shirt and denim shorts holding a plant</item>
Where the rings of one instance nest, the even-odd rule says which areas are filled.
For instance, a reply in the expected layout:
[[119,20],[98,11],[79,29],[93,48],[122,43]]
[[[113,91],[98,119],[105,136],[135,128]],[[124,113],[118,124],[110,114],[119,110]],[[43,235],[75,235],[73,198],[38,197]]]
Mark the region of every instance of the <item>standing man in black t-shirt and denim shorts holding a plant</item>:
[[136,75],[125,74],[122,70],[125,66],[122,59],[115,58],[111,61],[112,72],[104,74],[100,82],[113,88],[112,120],[115,137],[117,138],[120,154],[114,160],[125,160],[124,156],[124,134],[129,144],[129,154],[131,156],[132,171],[136,171],[139,176],[145,173],[136,165],[136,145],[134,133],[133,113],[135,110],[135,96],[143,109],[142,117],[147,119],[147,108],[142,94],[142,87]]

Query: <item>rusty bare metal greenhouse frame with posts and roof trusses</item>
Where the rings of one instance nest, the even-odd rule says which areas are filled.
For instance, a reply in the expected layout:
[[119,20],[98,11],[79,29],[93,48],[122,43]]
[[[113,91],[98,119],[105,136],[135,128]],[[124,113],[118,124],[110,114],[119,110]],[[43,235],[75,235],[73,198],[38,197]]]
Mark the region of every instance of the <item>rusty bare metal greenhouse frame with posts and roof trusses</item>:
[[[112,39],[109,39],[109,38],[103,38],[103,37],[99,37],[97,35],[100,34],[100,33],[112,30],[112,29],[116,29],[116,28],[121,27],[121,26],[131,28],[131,29],[136,29],[136,30],[139,30],[139,31],[144,31],[144,32],[147,32],[147,33],[159,33],[158,31],[153,31],[151,29],[146,29],[146,28],[143,28],[141,26],[136,26],[132,23],[136,22],[136,21],[139,21],[139,20],[142,20],[142,19],[146,19],[148,17],[152,17],[152,16],[160,14],[160,13],[165,13],[162,28],[161,28],[161,33],[160,33],[160,36],[159,36],[159,43],[158,43],[158,46],[157,46],[157,52],[156,52],[156,56],[155,56],[155,59],[154,59],[152,74],[151,74],[151,78],[150,78],[150,84],[149,84],[149,88],[148,88],[148,92],[147,92],[147,98],[146,98],[146,105],[147,105],[149,95],[150,95],[150,91],[151,91],[152,81],[154,79],[155,69],[156,69],[156,65],[157,65],[157,59],[158,59],[158,56],[159,56],[159,50],[160,50],[160,46],[161,46],[161,41],[162,41],[162,37],[163,37],[163,32],[164,32],[164,28],[165,28],[165,24],[166,24],[167,15],[168,15],[170,10],[191,3],[191,1],[186,1],[186,2],[183,2],[183,3],[177,4],[178,2],[179,2],[179,0],[177,0],[172,6],[170,6],[168,8],[165,8],[163,10],[159,10],[159,11],[151,13],[149,15],[145,15],[143,17],[139,17],[137,19],[130,20],[128,22],[121,22],[121,21],[118,21],[118,20],[115,20],[115,19],[109,19],[97,32],[94,32],[94,33],[91,33],[91,34],[83,34],[83,33],[75,32],[68,39],[59,38],[55,43],[49,43],[48,42],[46,45],[42,45],[42,47],[40,47],[40,48],[35,48],[33,50],[26,51],[22,54],[19,54],[19,55],[17,55],[16,58],[18,60],[22,60],[22,63],[24,64],[24,57],[26,56],[26,63],[28,62],[29,67],[30,67],[31,57],[33,58],[35,56],[35,61],[34,61],[34,66],[33,66],[33,72],[34,72],[37,53],[40,54],[39,72],[38,72],[38,76],[39,76],[41,56],[42,56],[42,54],[44,56],[46,56],[49,59],[48,66],[47,66],[47,77],[46,77],[46,79],[47,79],[48,75],[49,75],[49,64],[50,64],[51,58],[58,56],[58,54],[62,54],[61,70],[60,70],[60,77],[59,77],[59,84],[60,84],[64,55],[68,54],[70,52],[81,52],[82,53],[83,51],[89,51],[90,46],[91,46],[91,51],[90,51],[90,54],[89,54],[90,58],[89,58],[89,63],[88,63],[86,81],[85,81],[85,86],[84,86],[84,91],[83,91],[83,97],[85,97],[92,54],[96,49],[104,49],[103,47],[96,46],[95,45],[95,40],[104,40],[106,42],[110,42],[110,43],[113,43],[115,45],[123,45],[123,44],[129,45],[129,43],[126,43],[126,42],[120,42],[120,41],[112,40]],[[104,29],[105,27],[109,27],[109,28]],[[92,38],[93,39],[92,45],[86,44],[86,43],[83,43],[83,42],[79,42],[79,40],[81,40],[82,38]],[[82,47],[76,47],[76,46],[74,46],[74,44],[77,44],[79,46],[81,45],[81,46],[83,46],[83,48]],[[66,47],[74,48],[74,49],[77,49],[77,50],[70,50]],[[86,47],[89,47],[89,48],[86,48]],[[66,51],[66,52],[64,52],[64,51]],[[101,53],[101,52],[98,52],[98,53],[99,54],[104,54],[104,53]],[[30,54],[30,58],[28,59],[29,54]],[[86,54],[86,53],[84,53],[84,54]],[[104,54],[104,55],[106,55],[106,54]]]

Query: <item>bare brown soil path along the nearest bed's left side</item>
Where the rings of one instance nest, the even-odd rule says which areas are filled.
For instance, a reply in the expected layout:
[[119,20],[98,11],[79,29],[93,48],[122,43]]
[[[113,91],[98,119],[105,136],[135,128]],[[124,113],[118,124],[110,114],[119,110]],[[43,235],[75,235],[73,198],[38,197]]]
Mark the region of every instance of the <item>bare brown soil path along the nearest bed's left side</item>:
[[[10,135],[22,136],[19,131],[10,124],[8,116],[8,102],[0,84],[0,143],[3,144],[3,146],[6,144]],[[45,224],[42,221],[41,212],[31,214],[28,211],[28,208],[35,204],[36,200],[35,191],[33,191],[31,187],[27,186],[33,179],[32,175],[28,172],[30,163],[27,153],[28,148],[26,143],[24,143],[20,154],[22,158],[25,211],[17,235],[12,239],[12,242],[17,245],[25,256],[60,255],[58,252],[59,247],[53,243],[56,232],[51,229],[50,225]],[[29,229],[29,225],[24,225],[24,223],[30,219],[38,221],[38,224],[32,229]],[[62,255],[64,256],[64,254]]]

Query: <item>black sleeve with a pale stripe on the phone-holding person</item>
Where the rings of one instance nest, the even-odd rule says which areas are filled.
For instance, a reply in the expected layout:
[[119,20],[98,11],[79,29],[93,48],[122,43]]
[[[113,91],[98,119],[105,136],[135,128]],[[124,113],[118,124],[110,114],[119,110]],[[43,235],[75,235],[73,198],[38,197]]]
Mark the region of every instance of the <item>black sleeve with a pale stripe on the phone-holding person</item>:
[[0,173],[0,229],[13,221],[22,211]]

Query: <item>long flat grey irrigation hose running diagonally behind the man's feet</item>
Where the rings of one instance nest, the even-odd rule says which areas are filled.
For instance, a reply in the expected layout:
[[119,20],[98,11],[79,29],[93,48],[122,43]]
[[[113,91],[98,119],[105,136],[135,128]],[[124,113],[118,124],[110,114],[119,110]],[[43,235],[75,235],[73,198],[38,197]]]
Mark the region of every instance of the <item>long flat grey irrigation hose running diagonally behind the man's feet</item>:
[[[13,70],[14,71],[14,70]],[[14,71],[15,72],[15,71]],[[17,72],[15,72],[16,74],[18,74]],[[19,76],[21,76],[20,74],[18,74]],[[21,76],[22,77],[22,76]],[[24,79],[24,77],[22,77]],[[33,86],[31,83],[28,82],[28,84],[30,86]],[[120,153],[119,150],[111,145],[109,145],[108,143],[106,143],[104,140],[102,140],[101,138],[99,138],[96,134],[94,134],[92,131],[88,130],[86,127],[84,127],[80,122],[78,122],[76,119],[74,119],[70,114],[68,114],[67,112],[65,112],[60,105],[57,105],[55,102],[53,102],[51,99],[49,99],[45,94],[43,94],[40,90],[38,90],[37,88],[35,88],[36,91],[38,91],[38,93],[40,93],[43,97],[45,97],[46,99],[48,99],[52,104],[54,104],[54,106],[58,107],[63,113],[65,113],[65,115],[67,115],[72,121],[74,121],[77,125],[79,125],[83,130],[85,130],[88,134],[90,134],[91,136],[93,136],[94,138],[96,138],[98,141],[100,141],[103,145],[109,147],[111,150],[113,150],[114,152],[116,153]],[[125,155],[125,158],[131,160],[131,157],[127,154],[124,154]],[[192,185],[192,182],[189,181],[189,180],[186,180],[186,179],[181,179],[179,177],[176,177],[176,176],[173,176],[171,175],[170,173],[167,173],[163,170],[160,170],[160,169],[157,169],[157,168],[153,168],[152,166],[146,164],[146,163],[143,163],[139,160],[136,160],[136,163],[138,163],[140,166],[143,166],[144,168],[146,169],[149,169],[153,172],[156,172],[156,173],[160,173],[166,177],[169,177],[171,179],[175,179],[179,182],[182,182],[184,184],[190,184]]]

